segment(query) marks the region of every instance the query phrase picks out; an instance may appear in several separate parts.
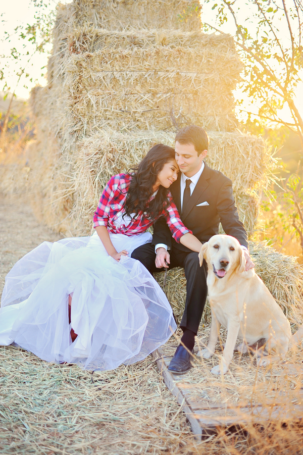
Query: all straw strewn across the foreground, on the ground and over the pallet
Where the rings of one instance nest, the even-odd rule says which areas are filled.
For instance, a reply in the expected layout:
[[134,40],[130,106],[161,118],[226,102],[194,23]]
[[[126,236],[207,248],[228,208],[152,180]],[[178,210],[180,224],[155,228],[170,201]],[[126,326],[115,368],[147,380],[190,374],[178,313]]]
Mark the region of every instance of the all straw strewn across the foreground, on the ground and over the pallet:
[[[75,366],[47,364],[11,346],[1,348],[0,356],[2,453],[301,453],[300,415],[266,419],[257,426],[250,422],[218,428],[217,434],[196,441],[150,357],[92,374]],[[290,408],[290,401],[301,397],[302,375],[281,375],[282,366],[259,372],[254,380],[250,359],[235,359],[231,373],[221,379],[209,373],[211,363],[196,362],[190,376],[183,378],[195,384],[198,396],[239,404],[243,395],[247,403],[271,390],[278,403],[287,394]]]

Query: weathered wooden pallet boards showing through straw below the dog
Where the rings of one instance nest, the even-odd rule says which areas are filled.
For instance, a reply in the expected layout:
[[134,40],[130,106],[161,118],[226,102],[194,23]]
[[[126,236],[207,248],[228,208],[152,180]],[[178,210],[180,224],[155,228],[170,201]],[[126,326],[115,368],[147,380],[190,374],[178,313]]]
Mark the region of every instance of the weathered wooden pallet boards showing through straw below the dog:
[[[237,406],[227,406],[226,403],[213,403],[210,400],[197,397],[195,385],[186,380],[185,375],[176,375],[168,370],[171,357],[162,347],[154,353],[157,366],[161,372],[164,382],[173,395],[176,396],[186,417],[191,425],[192,432],[201,439],[202,436],[213,434],[218,427],[247,424],[249,422],[262,424],[269,420],[281,419],[285,421],[298,420],[303,416],[303,390],[302,400],[296,404],[289,402],[289,397],[279,397],[279,403],[270,401],[264,405],[250,406],[247,402],[240,402]],[[287,374],[303,377],[303,366],[286,365]],[[302,384],[303,385],[303,384]]]

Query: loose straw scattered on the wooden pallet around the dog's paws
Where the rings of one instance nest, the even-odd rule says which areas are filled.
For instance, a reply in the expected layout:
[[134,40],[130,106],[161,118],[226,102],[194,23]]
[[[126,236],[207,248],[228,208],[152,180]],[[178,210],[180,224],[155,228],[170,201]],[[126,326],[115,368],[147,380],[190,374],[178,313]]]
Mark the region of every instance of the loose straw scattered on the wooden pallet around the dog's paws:
[[[292,331],[296,329],[297,326],[293,325]],[[209,332],[210,325],[200,329],[196,338],[196,352],[207,345]],[[179,343],[178,336],[176,338],[171,338],[162,347],[165,356],[173,356]],[[256,357],[251,353],[241,355],[235,351],[228,373],[224,377],[218,377],[211,373],[211,369],[220,361],[225,340],[226,330],[221,328],[214,357],[196,357],[194,368],[186,376],[180,377],[180,383],[177,381],[180,387],[193,389],[190,396],[192,402],[202,399],[208,402],[210,408],[215,405],[225,405],[227,408],[263,405],[266,408],[270,403],[272,406],[282,406],[283,402],[288,402],[289,410],[291,403],[302,404],[303,340],[287,352],[285,362],[276,362],[266,368],[257,367]],[[283,415],[280,416],[282,418]]]

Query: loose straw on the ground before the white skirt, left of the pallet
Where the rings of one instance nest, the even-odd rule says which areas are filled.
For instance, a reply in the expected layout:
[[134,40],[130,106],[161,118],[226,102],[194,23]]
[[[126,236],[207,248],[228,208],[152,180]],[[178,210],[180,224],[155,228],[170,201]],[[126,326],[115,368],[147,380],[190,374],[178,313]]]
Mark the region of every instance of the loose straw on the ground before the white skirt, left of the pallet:
[[159,453],[192,439],[150,357],[92,374],[12,346],[0,356],[2,453]]

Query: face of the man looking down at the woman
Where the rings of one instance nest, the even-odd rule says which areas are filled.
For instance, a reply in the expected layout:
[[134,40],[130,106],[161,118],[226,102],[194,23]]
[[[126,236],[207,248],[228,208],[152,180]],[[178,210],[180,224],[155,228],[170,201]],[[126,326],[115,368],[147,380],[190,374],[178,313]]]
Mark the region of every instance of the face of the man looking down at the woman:
[[207,150],[203,150],[198,156],[196,149],[192,143],[180,144],[175,142],[176,162],[186,177],[192,177],[196,174],[202,165],[204,158],[207,155]]

